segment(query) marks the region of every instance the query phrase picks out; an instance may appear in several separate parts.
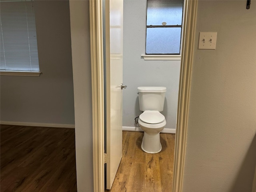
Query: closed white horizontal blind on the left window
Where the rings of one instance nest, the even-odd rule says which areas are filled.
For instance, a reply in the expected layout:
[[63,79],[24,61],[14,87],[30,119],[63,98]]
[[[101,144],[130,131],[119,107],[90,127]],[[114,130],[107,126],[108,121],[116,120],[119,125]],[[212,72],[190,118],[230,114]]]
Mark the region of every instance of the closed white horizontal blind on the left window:
[[0,0],[0,71],[39,72],[33,1]]

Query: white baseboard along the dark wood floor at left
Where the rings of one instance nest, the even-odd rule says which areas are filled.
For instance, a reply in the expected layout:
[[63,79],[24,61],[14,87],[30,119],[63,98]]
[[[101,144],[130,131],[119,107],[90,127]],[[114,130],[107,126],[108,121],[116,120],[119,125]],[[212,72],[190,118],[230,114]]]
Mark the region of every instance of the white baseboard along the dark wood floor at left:
[[20,126],[35,126],[35,127],[75,128],[74,124],[32,123],[32,122],[13,122],[13,121],[0,121],[0,124],[20,125]]

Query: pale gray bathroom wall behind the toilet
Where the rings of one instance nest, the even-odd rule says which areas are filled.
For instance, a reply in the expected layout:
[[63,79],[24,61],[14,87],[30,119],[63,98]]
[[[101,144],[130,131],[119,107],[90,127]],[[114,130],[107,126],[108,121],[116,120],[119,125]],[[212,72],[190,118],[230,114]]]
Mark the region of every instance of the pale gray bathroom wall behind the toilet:
[[144,60],[146,0],[124,0],[123,126],[139,127],[134,118],[141,114],[137,87],[165,86],[166,128],[176,129],[180,61]]

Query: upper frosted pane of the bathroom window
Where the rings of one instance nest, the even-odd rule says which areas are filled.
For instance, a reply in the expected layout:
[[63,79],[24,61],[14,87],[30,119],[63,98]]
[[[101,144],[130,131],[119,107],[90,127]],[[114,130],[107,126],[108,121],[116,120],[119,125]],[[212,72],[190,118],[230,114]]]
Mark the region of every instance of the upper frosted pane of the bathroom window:
[[181,25],[182,8],[183,0],[148,0],[147,25]]

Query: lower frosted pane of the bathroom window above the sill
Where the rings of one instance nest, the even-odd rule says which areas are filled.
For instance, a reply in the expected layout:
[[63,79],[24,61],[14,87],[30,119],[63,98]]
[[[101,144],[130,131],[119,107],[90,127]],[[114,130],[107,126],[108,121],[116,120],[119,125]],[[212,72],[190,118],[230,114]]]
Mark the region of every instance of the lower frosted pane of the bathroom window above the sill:
[[181,28],[147,28],[146,54],[180,54]]

